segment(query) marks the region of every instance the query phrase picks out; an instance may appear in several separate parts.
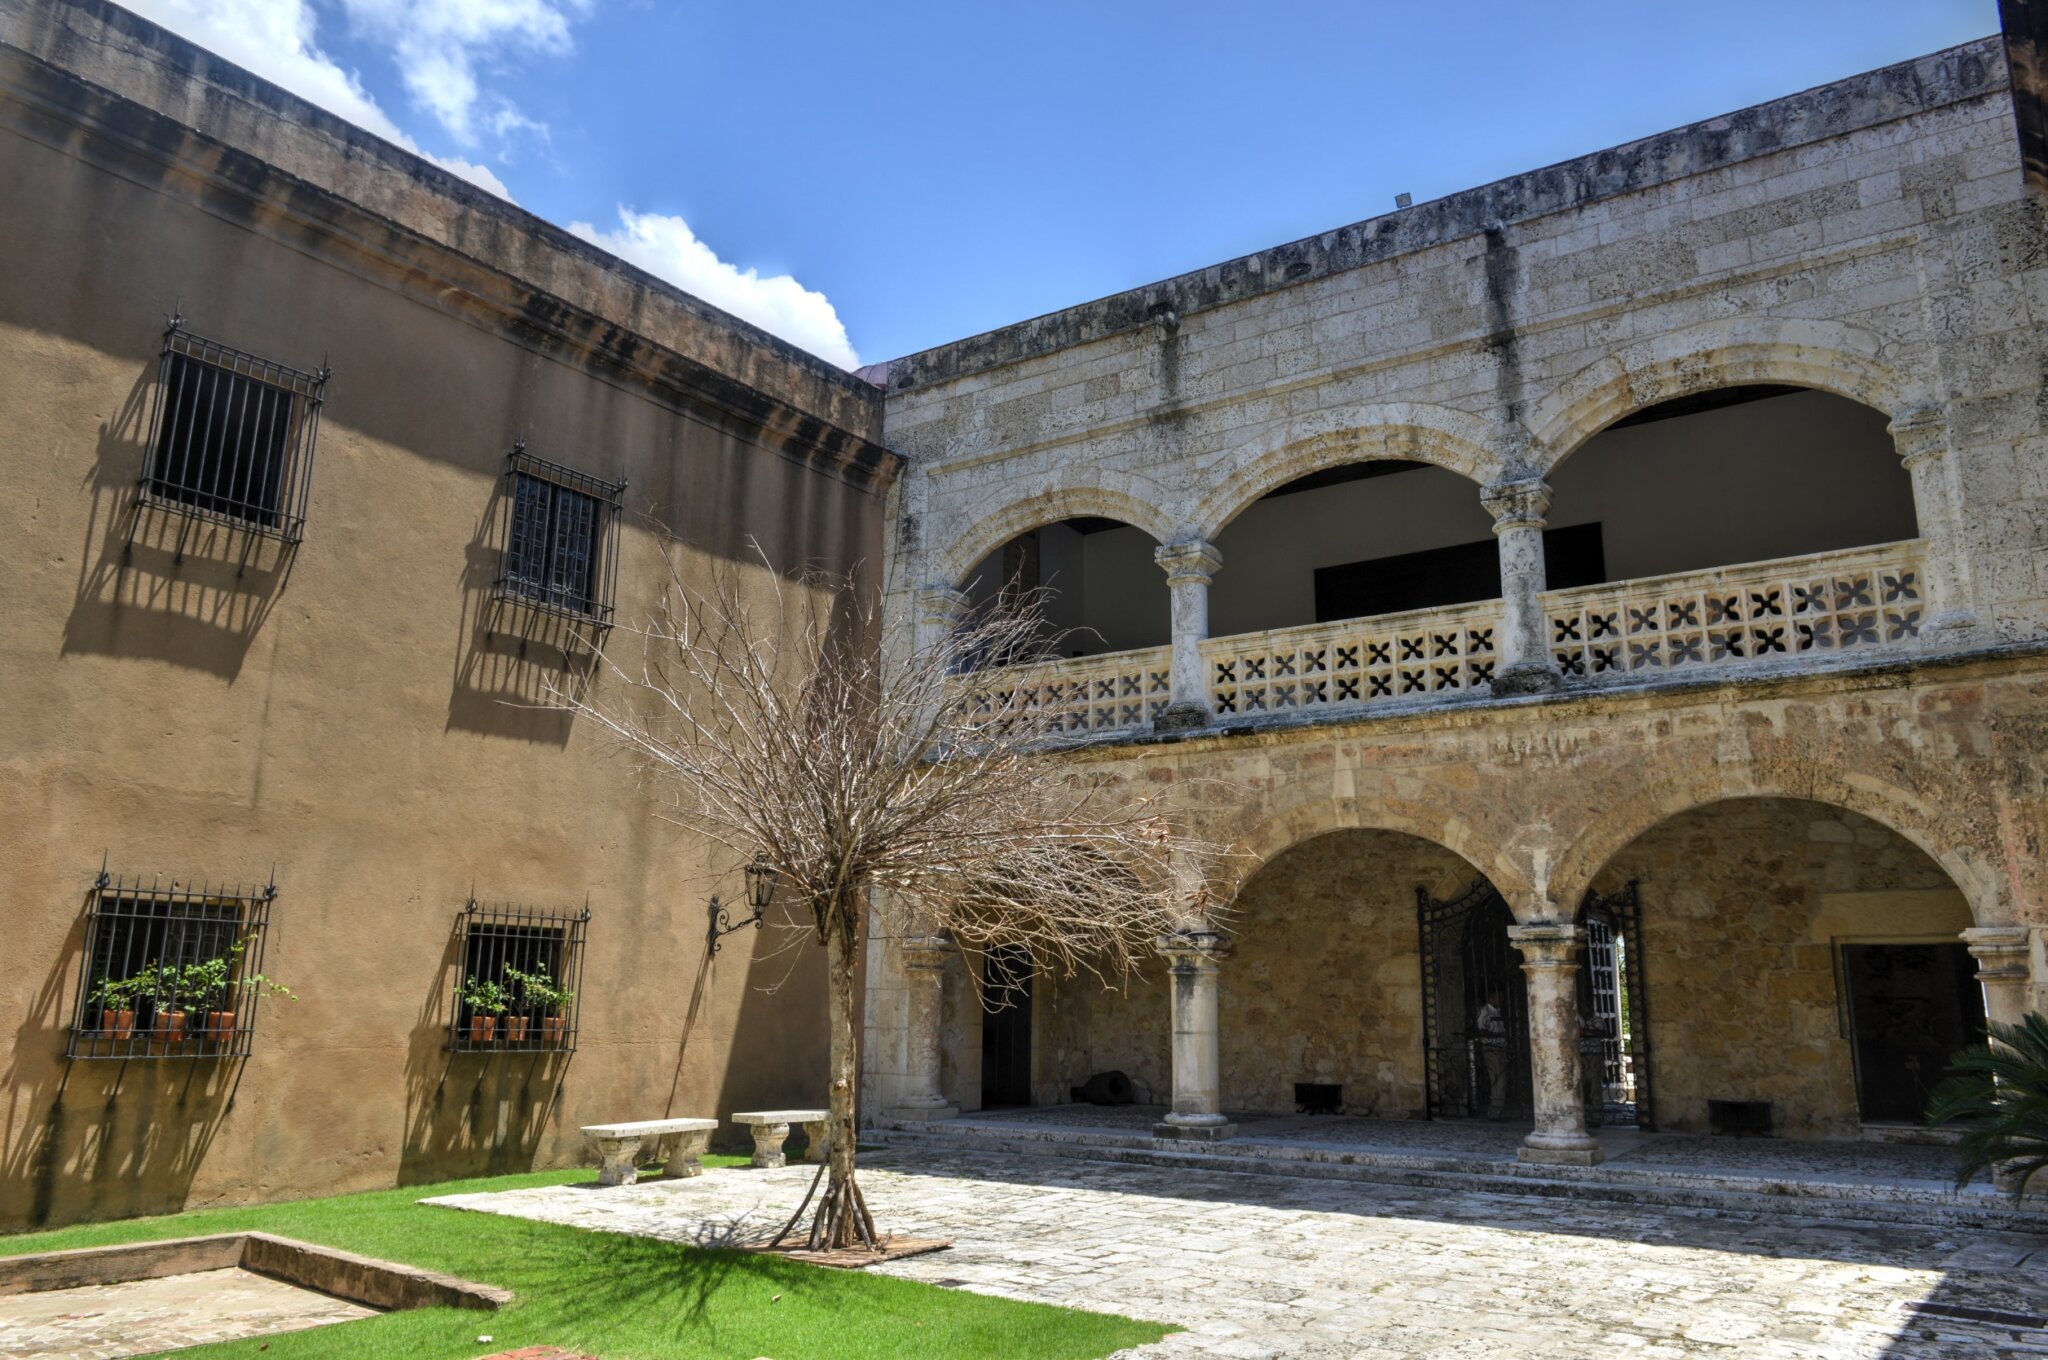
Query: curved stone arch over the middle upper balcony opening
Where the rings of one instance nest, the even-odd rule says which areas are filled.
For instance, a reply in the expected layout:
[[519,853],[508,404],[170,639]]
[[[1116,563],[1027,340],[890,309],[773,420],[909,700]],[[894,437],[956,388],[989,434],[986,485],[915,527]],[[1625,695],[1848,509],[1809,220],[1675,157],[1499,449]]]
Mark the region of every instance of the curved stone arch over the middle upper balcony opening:
[[1214,539],[1268,492],[1325,467],[1374,459],[1432,463],[1487,485],[1507,473],[1509,459],[1501,451],[1509,444],[1491,422],[1448,406],[1389,401],[1341,408],[1231,449],[1221,463],[1204,469],[1204,481],[1214,490],[1188,522],[1204,539]]

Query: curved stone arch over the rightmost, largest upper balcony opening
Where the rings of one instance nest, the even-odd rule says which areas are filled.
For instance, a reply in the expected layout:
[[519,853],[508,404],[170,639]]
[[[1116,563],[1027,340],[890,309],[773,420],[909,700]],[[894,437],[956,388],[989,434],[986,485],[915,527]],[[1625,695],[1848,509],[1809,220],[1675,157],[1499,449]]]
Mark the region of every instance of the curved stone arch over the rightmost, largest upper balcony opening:
[[1747,383],[1815,387],[1901,416],[1927,403],[1884,342],[1839,322],[1731,317],[1630,344],[1579,369],[1530,410],[1534,471],[1548,473],[1610,424],[1659,401]]

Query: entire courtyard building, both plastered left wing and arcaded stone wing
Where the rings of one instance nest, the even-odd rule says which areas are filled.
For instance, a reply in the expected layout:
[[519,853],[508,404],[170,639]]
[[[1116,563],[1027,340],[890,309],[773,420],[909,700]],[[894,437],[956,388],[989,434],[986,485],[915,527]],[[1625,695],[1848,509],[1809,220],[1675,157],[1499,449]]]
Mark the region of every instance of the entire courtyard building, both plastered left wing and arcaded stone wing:
[[0,0],[0,1229],[817,1100],[813,954],[715,952],[737,864],[543,703],[653,606],[651,524],[928,637],[1047,586],[1069,655],[963,703],[1239,850],[1122,989],[885,909],[872,1124],[1122,1071],[1188,1139],[1913,1133],[2048,979],[2025,37],[846,375]]

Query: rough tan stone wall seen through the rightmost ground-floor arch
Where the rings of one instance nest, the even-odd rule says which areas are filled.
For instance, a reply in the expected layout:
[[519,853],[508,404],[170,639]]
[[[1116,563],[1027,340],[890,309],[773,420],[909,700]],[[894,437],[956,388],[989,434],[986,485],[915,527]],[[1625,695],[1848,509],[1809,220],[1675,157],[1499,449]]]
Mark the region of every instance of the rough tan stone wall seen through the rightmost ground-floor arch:
[[1942,866],[1868,817],[1794,799],[1681,813],[1622,850],[1638,881],[1659,1129],[1708,1100],[1767,1100],[1790,1137],[1853,1137],[1841,942],[1954,942],[1970,907]]

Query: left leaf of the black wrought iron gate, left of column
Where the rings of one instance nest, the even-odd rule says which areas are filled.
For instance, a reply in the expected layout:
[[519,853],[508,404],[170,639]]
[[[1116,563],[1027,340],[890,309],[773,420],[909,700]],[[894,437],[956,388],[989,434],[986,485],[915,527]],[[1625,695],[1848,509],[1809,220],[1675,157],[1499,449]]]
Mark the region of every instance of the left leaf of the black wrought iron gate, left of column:
[[[1528,979],[1485,879],[1452,901],[1415,889],[1430,1118],[1530,1118]],[[1495,1022],[1497,1016],[1497,1022]]]

